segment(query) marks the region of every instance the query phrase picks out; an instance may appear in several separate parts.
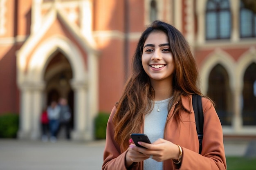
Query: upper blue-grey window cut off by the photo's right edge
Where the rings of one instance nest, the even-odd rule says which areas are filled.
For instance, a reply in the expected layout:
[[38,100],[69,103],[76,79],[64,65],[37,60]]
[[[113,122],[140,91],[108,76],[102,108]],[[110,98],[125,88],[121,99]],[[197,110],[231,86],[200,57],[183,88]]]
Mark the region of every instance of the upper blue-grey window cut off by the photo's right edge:
[[256,13],[245,8],[242,0],[240,0],[240,37],[256,37]]

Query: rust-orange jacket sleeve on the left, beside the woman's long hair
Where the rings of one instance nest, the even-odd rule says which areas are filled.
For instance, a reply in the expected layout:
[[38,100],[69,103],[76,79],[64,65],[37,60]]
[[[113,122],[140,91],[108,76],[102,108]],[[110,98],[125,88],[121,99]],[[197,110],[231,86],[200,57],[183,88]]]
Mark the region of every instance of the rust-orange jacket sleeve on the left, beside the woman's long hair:
[[[108,119],[106,146],[103,153],[102,170],[126,170],[127,169],[125,166],[127,150],[121,153],[120,146],[119,144],[117,144],[117,142],[114,139],[114,125],[112,123],[112,119],[116,113],[116,110],[117,110],[116,107],[112,109],[110,117]],[[133,165],[133,166],[136,166],[136,165]]]

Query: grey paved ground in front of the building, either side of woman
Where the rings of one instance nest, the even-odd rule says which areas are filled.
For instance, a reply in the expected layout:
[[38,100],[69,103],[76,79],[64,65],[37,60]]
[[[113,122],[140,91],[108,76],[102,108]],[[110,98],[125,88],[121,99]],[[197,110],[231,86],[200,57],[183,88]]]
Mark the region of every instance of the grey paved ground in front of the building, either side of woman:
[[[224,141],[227,156],[243,156],[249,141]],[[0,170],[101,170],[105,141],[0,139]]]

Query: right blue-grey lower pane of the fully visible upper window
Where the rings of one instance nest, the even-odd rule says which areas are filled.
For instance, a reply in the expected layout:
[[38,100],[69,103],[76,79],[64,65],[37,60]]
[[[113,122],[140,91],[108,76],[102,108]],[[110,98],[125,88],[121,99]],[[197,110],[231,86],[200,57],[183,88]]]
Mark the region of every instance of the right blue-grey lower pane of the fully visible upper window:
[[220,38],[230,37],[230,13],[229,11],[220,12]]

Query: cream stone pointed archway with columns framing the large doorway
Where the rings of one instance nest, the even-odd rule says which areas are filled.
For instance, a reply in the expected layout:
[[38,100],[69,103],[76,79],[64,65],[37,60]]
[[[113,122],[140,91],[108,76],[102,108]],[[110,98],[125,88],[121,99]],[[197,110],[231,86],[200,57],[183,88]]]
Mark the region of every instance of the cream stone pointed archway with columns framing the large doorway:
[[[97,114],[97,57],[95,51],[88,50],[86,69],[84,57],[79,49],[67,38],[53,36],[48,38],[35,49],[31,55],[27,70],[21,70],[19,87],[21,90],[20,138],[38,139],[40,136],[39,118],[45,105],[46,66],[56,51],[63,53],[70,63],[73,77],[70,81],[74,91],[74,132],[72,138],[76,140],[93,139],[93,121]],[[22,54],[19,54],[22,56]],[[19,57],[19,56],[18,56]],[[58,68],[56,68],[58,69]],[[94,77],[90,82],[88,79]],[[90,89],[90,90],[89,90]],[[92,100],[88,100],[92,99]],[[89,107],[90,106],[90,107]]]

